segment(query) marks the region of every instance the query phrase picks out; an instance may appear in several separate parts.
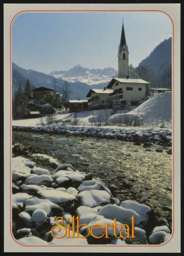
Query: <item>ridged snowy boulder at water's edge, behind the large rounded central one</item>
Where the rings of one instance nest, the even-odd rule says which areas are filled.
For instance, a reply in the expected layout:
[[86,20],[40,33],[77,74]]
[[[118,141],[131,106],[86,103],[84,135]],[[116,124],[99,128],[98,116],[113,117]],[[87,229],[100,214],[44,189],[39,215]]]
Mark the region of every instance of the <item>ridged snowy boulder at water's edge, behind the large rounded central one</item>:
[[89,190],[105,190],[107,193],[110,193],[109,188],[105,186],[105,183],[101,180],[86,180],[78,187],[80,192],[89,191]]

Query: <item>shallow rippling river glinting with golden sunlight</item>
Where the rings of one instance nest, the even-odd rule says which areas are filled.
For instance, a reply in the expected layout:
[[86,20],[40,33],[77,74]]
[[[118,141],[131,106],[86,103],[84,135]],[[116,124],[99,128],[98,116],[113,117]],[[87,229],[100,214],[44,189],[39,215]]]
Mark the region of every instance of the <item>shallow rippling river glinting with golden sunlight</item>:
[[[99,139],[71,135],[48,135],[33,132],[13,132],[16,143],[31,143],[39,153],[71,163],[75,169],[100,177],[113,187],[113,196],[150,205],[155,211],[171,206],[172,156],[170,147],[153,144],[150,147],[115,139]],[[162,152],[156,152],[162,149]],[[26,157],[26,156],[25,156]],[[30,157],[38,167],[54,170],[49,163]],[[115,190],[115,191],[114,191]]]

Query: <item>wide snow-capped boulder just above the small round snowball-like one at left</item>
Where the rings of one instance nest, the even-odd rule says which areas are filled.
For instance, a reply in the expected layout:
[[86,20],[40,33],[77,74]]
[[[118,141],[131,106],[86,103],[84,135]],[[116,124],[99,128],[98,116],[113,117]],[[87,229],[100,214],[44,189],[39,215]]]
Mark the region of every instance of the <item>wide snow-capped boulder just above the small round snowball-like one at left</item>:
[[49,215],[57,213],[56,215],[60,216],[62,212],[62,210],[59,208],[57,204],[52,203],[48,199],[40,199],[38,197],[32,197],[25,201],[24,211],[32,213],[37,209],[44,210]]

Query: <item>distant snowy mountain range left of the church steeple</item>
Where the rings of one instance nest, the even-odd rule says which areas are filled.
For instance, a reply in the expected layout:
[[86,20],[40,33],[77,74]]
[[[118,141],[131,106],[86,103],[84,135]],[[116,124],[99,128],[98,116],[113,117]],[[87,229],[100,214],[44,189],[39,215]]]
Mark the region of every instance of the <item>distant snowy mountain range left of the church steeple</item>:
[[61,71],[52,71],[52,75],[58,79],[67,80],[68,82],[81,82],[88,85],[109,82],[118,71],[114,68],[105,69],[88,69],[83,68],[81,65],[76,65],[73,68]]

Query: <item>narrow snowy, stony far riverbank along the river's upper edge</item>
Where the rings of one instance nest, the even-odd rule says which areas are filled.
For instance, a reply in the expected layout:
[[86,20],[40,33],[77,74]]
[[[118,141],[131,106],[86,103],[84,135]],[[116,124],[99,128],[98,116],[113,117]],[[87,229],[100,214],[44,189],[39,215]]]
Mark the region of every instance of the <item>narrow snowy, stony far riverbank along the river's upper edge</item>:
[[45,126],[13,126],[13,131],[44,132],[47,134],[69,134],[92,136],[99,138],[112,138],[133,141],[170,142],[171,129],[166,128],[135,128],[135,127],[89,127],[63,124],[50,124]]

